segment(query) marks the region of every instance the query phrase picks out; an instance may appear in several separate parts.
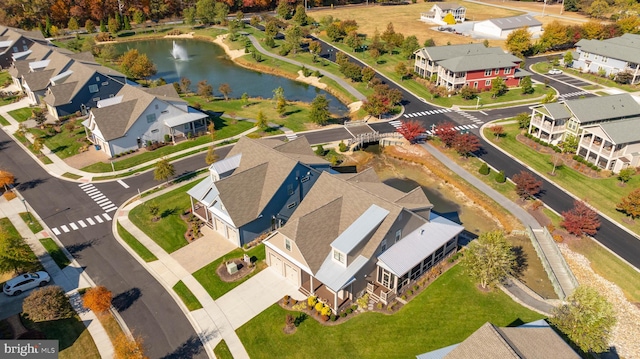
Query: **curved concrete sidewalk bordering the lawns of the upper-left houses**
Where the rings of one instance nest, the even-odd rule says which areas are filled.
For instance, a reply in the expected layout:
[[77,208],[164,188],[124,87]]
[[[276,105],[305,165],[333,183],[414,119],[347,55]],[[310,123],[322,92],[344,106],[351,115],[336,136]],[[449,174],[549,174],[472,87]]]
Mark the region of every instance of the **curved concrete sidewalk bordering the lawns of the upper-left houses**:
[[[12,103],[6,106],[2,106],[0,107],[0,115],[2,117],[4,117],[9,123],[9,126],[4,126],[3,130],[12,138],[14,138],[15,142],[21,146],[23,148],[23,150],[29,154],[37,163],[40,164],[40,166],[42,166],[42,168],[44,168],[45,171],[49,172],[49,174],[51,174],[54,177],[58,177],[58,178],[64,178],[64,180],[66,181],[72,181],[72,182],[92,182],[92,178],[93,177],[100,177],[100,176],[116,176],[116,175],[122,175],[122,174],[128,174],[131,173],[131,175],[134,175],[134,172],[136,172],[136,170],[139,170],[141,168],[144,168],[146,166],[149,166],[150,164],[154,163],[157,161],[157,159],[155,160],[151,160],[127,169],[123,169],[123,170],[118,170],[118,171],[112,171],[112,172],[86,172],[86,171],[82,171],[79,170],[77,168],[71,167],[69,166],[66,162],[64,162],[64,160],[60,159],[60,157],[58,157],[55,153],[53,153],[49,148],[47,148],[46,146],[42,147],[42,154],[47,156],[53,163],[51,164],[44,164],[42,163],[42,161],[40,161],[31,151],[29,151],[28,148],[26,148],[22,143],[20,143],[20,141],[16,140],[15,137],[13,136],[13,134],[18,130],[18,126],[20,125],[20,123],[18,121],[16,121],[11,115],[9,115],[9,111],[13,111],[15,109],[18,108],[24,108],[24,107],[28,107],[29,106],[29,102],[27,98],[24,98],[22,100],[20,100],[19,102],[16,103]],[[184,149],[182,151],[178,151],[178,152],[174,152],[168,156],[166,156],[169,160],[171,160],[174,157],[178,157],[181,156],[185,153],[189,153],[195,150],[200,150],[200,149],[204,149],[204,148],[208,148],[211,145],[218,145],[220,143],[226,142],[226,141],[231,141],[231,140],[236,140],[239,139],[240,137],[246,136],[247,134],[256,131],[257,128],[256,127],[252,127],[250,129],[248,129],[247,131],[244,131],[238,135],[235,135],[233,137],[229,137],[229,138],[225,138],[225,139],[221,139],[221,140],[217,140],[211,143],[205,143],[199,146],[194,146],[194,147],[190,147],[187,149]],[[31,135],[30,133],[26,133],[26,137],[29,141],[33,142],[33,135]],[[184,159],[184,158],[188,158],[191,156],[197,156],[199,155],[199,153],[195,153],[192,154],[190,156],[185,156],[185,157],[181,157],[180,159]],[[146,171],[152,171],[153,169],[147,169]],[[72,179],[69,177],[64,177],[63,174],[65,173],[70,173],[73,175],[77,175],[80,176],[79,179]],[[135,173],[138,174],[138,173]],[[124,178],[124,177],[123,177]],[[115,181],[115,179],[113,180],[109,180],[109,181]],[[99,181],[96,181],[99,182]]]

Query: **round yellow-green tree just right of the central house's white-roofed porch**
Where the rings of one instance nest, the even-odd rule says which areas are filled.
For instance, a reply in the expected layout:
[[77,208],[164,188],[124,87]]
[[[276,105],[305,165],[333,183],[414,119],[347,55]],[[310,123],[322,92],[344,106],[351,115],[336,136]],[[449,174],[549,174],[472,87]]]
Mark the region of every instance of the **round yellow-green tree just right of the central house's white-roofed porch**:
[[516,255],[501,231],[482,233],[462,257],[463,266],[482,288],[494,286],[512,275]]

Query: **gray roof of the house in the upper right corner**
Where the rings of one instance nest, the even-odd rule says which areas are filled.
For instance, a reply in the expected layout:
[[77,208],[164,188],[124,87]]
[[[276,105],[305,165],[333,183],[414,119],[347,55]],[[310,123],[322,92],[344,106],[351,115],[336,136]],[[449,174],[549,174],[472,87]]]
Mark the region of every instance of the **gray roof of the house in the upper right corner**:
[[583,52],[631,63],[640,62],[640,35],[624,34],[607,40],[582,39],[576,43],[576,47]]

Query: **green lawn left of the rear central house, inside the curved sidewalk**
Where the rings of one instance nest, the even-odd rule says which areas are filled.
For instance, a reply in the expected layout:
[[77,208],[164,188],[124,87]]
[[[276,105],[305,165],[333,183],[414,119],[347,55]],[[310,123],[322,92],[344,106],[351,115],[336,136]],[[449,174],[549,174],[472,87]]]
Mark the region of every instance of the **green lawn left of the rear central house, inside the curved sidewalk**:
[[149,202],[132,209],[129,219],[167,253],[186,246],[188,243],[184,239],[184,233],[187,231],[187,223],[180,215],[190,206],[189,195],[186,192],[196,184],[198,181],[154,198],[152,201],[160,207],[161,218],[157,222],[151,221],[152,216],[145,205]]

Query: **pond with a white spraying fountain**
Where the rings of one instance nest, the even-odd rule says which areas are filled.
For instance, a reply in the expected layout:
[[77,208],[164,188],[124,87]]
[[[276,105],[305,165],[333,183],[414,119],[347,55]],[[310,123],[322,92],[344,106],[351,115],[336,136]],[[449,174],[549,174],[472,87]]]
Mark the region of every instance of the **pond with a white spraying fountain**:
[[[347,107],[328,92],[308,84],[238,66],[225,56],[220,46],[210,42],[155,39],[124,42],[115,46],[120,54],[134,48],[146,54],[158,70],[151,79],[162,77],[167,83],[172,83],[186,77],[191,80],[192,91],[195,91],[198,82],[202,80],[207,80],[213,86],[214,94],[218,93],[220,84],[228,83],[232,90],[231,97],[236,98],[244,92],[250,97],[271,98],[273,90],[282,87],[289,101],[311,102],[317,95],[322,94],[329,100],[329,110],[332,113],[339,116],[348,113]],[[174,51],[178,59],[174,58]]]

